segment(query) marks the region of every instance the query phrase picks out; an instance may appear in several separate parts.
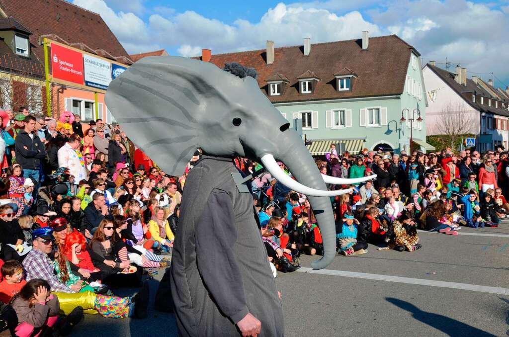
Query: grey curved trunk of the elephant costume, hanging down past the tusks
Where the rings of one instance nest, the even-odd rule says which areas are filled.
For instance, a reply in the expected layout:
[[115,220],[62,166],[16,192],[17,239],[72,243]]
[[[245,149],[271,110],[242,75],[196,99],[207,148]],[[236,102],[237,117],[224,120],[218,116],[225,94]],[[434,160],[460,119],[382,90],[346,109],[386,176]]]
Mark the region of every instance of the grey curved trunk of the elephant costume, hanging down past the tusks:
[[[313,157],[309,154],[304,144],[302,144],[302,141],[287,144],[293,144],[294,146],[287,151],[276,154],[276,156],[287,165],[297,181],[310,188],[327,190]],[[332,214],[330,198],[308,195],[307,199],[313,209],[322,234],[324,251],[323,257],[320,260],[313,261],[311,266],[313,269],[322,269],[327,267],[336,255],[334,215]]]

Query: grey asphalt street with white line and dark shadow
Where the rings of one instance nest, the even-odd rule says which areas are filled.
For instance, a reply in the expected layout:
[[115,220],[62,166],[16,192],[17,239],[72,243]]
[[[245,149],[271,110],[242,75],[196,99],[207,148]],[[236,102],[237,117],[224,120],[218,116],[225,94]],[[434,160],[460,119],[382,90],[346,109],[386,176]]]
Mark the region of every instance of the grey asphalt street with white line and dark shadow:
[[[463,228],[458,236],[419,232],[415,252],[338,256],[326,270],[278,273],[287,336],[509,335],[509,221]],[[149,280],[152,302],[163,270]],[[116,291],[119,295],[134,290]],[[145,320],[88,315],[73,336],[177,336],[174,316]]]

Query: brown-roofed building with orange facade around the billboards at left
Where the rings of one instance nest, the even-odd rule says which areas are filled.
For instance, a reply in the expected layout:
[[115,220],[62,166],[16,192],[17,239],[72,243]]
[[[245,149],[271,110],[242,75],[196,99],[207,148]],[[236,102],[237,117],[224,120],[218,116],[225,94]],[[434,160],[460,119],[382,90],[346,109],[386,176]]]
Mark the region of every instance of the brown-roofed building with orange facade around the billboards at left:
[[[2,108],[17,109],[19,105],[27,105],[33,113],[45,112],[44,38],[126,66],[133,63],[97,13],[64,0],[0,0],[0,88],[11,86],[10,94],[4,90],[0,96],[16,98],[10,102],[0,98]],[[21,79],[20,85],[9,77],[13,75],[26,80]],[[52,83],[50,95],[56,117],[69,110],[83,120],[96,119],[97,108],[99,117],[112,122],[104,95],[98,94],[96,102],[92,89]],[[37,100],[41,103],[36,104]]]

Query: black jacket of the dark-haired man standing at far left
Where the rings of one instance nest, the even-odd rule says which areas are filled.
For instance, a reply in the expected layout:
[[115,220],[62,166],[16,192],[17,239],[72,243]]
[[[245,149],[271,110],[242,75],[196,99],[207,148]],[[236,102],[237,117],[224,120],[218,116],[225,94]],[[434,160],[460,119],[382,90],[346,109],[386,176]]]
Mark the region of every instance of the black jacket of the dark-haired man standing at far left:
[[46,158],[44,144],[37,133],[33,135],[34,138],[31,138],[25,130],[19,131],[14,145],[16,162],[25,170],[39,170],[41,159]]

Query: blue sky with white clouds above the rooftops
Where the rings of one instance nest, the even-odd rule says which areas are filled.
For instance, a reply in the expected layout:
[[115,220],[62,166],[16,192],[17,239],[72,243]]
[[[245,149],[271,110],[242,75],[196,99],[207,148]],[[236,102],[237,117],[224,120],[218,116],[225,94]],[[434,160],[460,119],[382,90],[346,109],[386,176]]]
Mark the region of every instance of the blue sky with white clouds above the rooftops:
[[[469,76],[509,85],[509,0],[301,0],[277,2],[73,0],[101,14],[129,53],[194,56],[397,34],[423,62],[445,58]],[[493,73],[493,75],[491,74]]]

